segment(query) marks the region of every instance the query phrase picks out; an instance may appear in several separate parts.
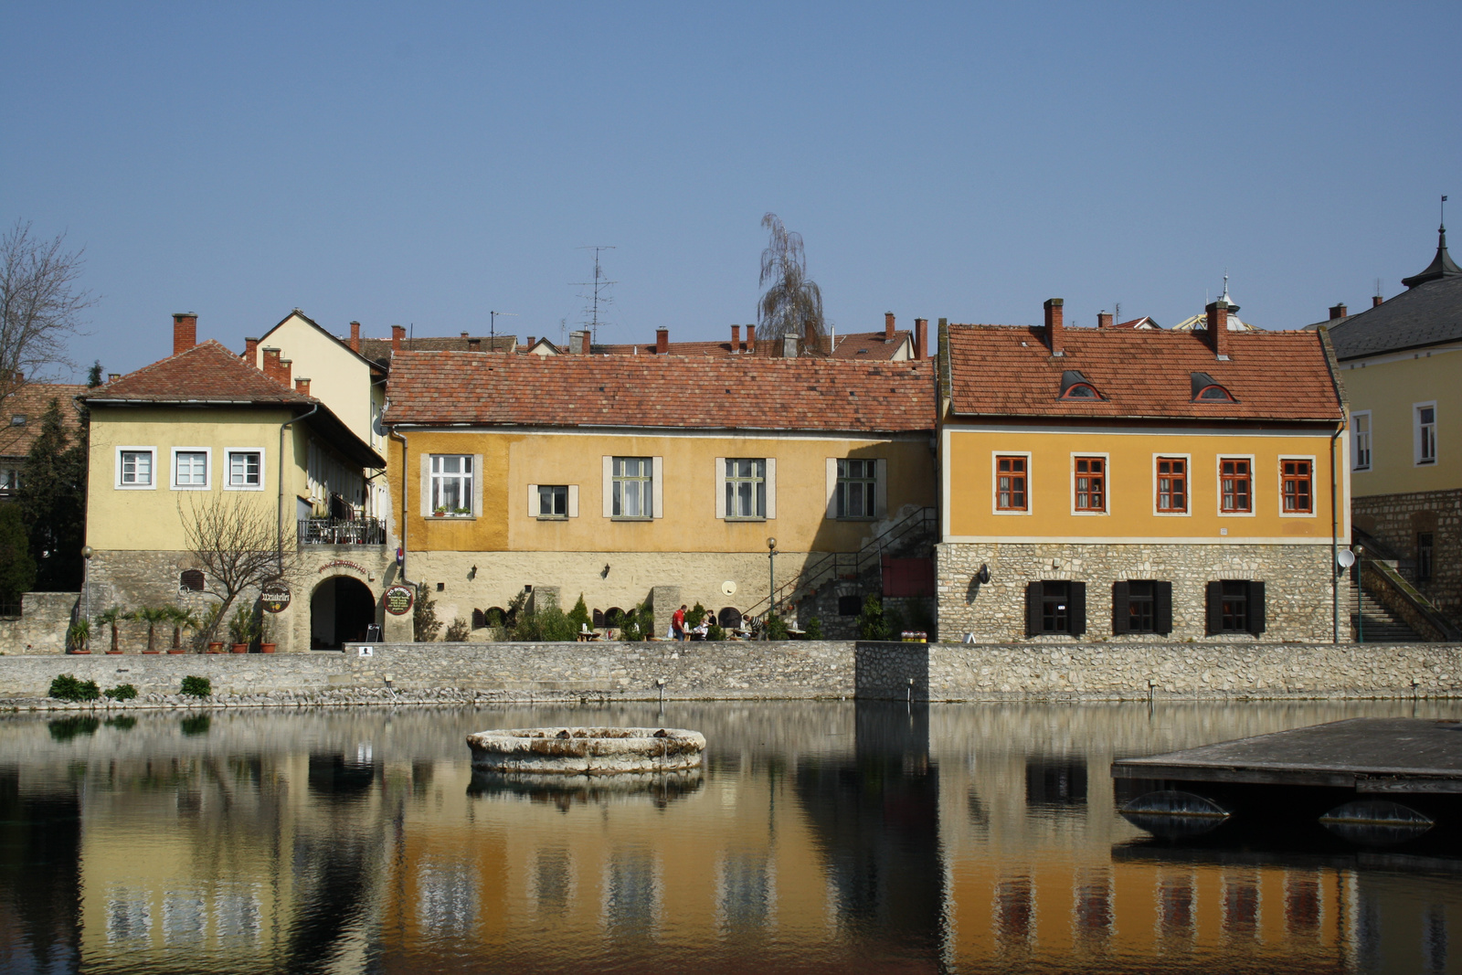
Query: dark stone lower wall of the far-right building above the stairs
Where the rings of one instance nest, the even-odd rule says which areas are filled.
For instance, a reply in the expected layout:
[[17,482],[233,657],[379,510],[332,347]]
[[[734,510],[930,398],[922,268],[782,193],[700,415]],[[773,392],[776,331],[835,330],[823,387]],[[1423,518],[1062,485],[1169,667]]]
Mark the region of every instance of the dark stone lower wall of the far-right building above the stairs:
[[1431,534],[1431,579],[1408,580],[1439,612],[1462,626],[1462,490],[1373,494],[1351,498],[1355,526],[1417,557],[1417,535]]

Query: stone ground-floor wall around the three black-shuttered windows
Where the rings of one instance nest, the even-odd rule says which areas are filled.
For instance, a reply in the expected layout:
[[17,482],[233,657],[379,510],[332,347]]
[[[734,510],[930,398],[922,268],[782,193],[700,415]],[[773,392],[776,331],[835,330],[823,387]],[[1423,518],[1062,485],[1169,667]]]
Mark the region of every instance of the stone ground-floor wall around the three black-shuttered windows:
[[[1069,545],[944,542],[936,547],[940,639],[972,633],[985,643],[1025,640],[1028,582],[1056,579],[1086,583],[1086,633],[1045,634],[1038,643],[1082,640],[1168,643],[1325,642],[1333,636],[1333,573],[1329,545]],[[980,583],[980,566],[990,582]],[[1173,583],[1173,633],[1111,631],[1111,585],[1120,579],[1165,579]],[[1247,633],[1206,634],[1206,583],[1215,579],[1265,582],[1266,627]],[[1344,610],[1344,607],[1342,607]],[[1344,633],[1341,634],[1345,636]]]

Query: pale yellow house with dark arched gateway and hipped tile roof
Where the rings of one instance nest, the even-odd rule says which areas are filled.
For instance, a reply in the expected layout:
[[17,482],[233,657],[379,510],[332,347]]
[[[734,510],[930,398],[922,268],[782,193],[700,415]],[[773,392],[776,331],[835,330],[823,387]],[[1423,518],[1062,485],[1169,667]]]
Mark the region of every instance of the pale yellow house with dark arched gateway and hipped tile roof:
[[[291,387],[287,373],[194,336],[196,316],[174,316],[174,355],[79,396],[91,411],[82,611],[206,612],[234,569],[205,572],[197,529],[237,516],[263,538],[202,534],[237,550],[234,563],[263,548],[288,570],[289,605],[269,618],[281,650],[364,637],[393,573],[385,526],[363,515],[366,472],[385,459],[310,396],[308,380]],[[257,595],[249,586],[235,605],[253,610]]]

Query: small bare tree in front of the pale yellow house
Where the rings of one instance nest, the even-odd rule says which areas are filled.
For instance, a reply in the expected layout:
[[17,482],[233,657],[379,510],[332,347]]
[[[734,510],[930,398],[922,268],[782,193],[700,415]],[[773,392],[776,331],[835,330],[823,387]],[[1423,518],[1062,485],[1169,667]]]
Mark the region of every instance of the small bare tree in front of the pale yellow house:
[[238,596],[288,576],[297,557],[275,548],[273,512],[244,493],[189,494],[186,503],[178,501],[178,516],[187,547],[203,570],[203,591],[219,601],[200,637],[208,642]]

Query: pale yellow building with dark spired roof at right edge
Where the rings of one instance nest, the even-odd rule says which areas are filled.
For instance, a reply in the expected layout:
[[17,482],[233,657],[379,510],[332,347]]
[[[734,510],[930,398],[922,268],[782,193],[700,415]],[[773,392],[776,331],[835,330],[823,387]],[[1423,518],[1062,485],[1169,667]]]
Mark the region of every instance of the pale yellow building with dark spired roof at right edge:
[[1462,269],[1437,254],[1406,291],[1329,323],[1349,396],[1355,526],[1462,623]]

